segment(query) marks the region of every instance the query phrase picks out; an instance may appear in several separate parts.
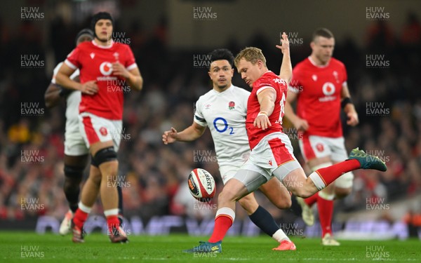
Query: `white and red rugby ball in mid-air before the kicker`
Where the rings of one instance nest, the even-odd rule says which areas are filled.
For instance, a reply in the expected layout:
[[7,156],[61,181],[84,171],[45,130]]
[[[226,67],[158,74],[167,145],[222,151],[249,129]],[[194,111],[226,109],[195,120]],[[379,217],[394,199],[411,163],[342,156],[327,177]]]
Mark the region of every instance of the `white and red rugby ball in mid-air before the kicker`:
[[207,170],[196,168],[187,179],[190,194],[198,201],[209,202],[215,196],[215,180]]

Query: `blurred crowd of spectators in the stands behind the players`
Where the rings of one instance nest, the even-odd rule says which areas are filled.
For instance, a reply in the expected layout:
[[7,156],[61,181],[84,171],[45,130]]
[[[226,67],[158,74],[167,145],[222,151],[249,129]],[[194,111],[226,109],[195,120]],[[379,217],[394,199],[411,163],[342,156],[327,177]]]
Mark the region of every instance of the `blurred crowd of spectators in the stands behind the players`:
[[[65,24],[57,18],[50,26],[46,35],[31,21],[22,22],[17,32],[11,32],[8,25],[0,22],[0,58],[11,62],[0,64],[0,220],[23,220],[37,215],[61,219],[68,210],[62,191],[65,103],[46,109],[44,92],[53,67],[74,48],[74,36],[83,25]],[[187,176],[199,167],[215,176],[218,189],[222,187],[215,158],[197,158],[215,156],[210,133],[207,131],[196,142],[166,146],[161,141],[164,130],[171,127],[182,130],[192,123],[194,102],[211,88],[207,69],[194,67],[194,55],[211,50],[168,48],[165,19],[149,31],[137,23],[117,30],[127,32],[145,79],[141,93],[125,93],[119,178],[124,182],[126,217],[140,215],[144,220],[154,215],[213,217],[215,210],[195,208],[187,191]],[[265,36],[255,36],[247,46],[262,48],[269,69],[279,72],[281,54],[274,44]],[[234,55],[242,47],[235,41],[225,46]],[[45,66],[22,68],[22,54],[38,54]],[[309,54],[306,41],[302,46],[291,47],[293,65]],[[367,55],[373,54],[385,55],[382,60],[388,61],[388,66],[368,67]],[[387,21],[374,21],[367,29],[363,46],[354,39],[337,40],[334,56],[347,67],[349,89],[360,119],[359,126],[344,126],[347,149],[360,147],[375,153],[389,167],[385,173],[354,172],[354,191],[338,209],[365,208],[366,198],[385,198],[390,203],[420,194],[420,21],[415,15],[408,15],[407,25],[399,32],[393,32]],[[237,73],[233,83],[246,87]],[[368,107],[368,102],[379,103],[375,104],[379,111],[368,111],[373,108]],[[28,105],[25,103],[34,103],[32,107],[38,111],[22,114],[22,108]],[[285,126],[291,128],[288,121]],[[294,138],[293,144],[295,155],[302,162]],[[265,198],[258,198],[262,205],[270,207]],[[29,209],[23,205],[27,203],[38,206]],[[237,216],[243,217],[243,211],[238,211]],[[98,203],[93,213],[101,212]],[[279,210],[271,208],[271,212],[276,217],[283,216]]]

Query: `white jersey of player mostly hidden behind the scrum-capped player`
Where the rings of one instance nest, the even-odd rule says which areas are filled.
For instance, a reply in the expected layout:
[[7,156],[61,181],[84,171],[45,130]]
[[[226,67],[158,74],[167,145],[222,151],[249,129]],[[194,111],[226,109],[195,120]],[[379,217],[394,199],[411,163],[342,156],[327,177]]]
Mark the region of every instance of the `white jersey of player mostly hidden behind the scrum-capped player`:
[[[53,79],[51,83],[55,84],[55,75],[60,69],[63,62],[58,63],[53,72]],[[79,76],[79,69],[76,69],[73,72],[70,79],[74,79],[76,76]],[[66,130],[74,129],[74,127],[79,127],[79,104],[81,103],[81,92],[79,90],[74,90],[67,96],[67,107],[66,107]]]

